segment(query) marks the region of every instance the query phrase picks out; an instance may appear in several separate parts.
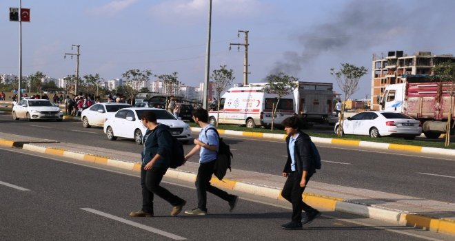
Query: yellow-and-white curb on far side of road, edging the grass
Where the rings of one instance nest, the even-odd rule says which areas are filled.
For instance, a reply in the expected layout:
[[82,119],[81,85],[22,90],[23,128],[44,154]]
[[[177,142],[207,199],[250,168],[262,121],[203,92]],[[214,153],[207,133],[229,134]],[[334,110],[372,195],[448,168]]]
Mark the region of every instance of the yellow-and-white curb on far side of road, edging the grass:
[[[199,127],[191,127],[194,132],[201,132]],[[219,134],[227,134],[232,136],[249,136],[256,138],[272,138],[276,140],[284,140],[286,138],[285,134],[272,134],[272,133],[262,133],[262,132],[239,132],[231,131],[225,129],[218,129]],[[344,140],[338,138],[322,138],[311,136],[314,143],[321,144],[332,144],[332,145],[349,145],[353,147],[368,147],[375,149],[390,149],[395,151],[409,151],[414,153],[426,153],[426,154],[443,154],[447,156],[455,156],[455,149],[444,149],[436,147],[421,147],[416,145],[401,145],[401,144],[391,144],[391,143],[375,143],[372,141],[363,141],[363,140]]]

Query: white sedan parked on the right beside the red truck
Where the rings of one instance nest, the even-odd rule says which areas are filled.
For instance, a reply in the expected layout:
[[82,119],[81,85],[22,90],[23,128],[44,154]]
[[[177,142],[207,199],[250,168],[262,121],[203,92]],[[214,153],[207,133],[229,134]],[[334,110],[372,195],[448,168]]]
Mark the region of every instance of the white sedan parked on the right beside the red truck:
[[[337,133],[339,123],[335,124]],[[414,139],[422,134],[420,121],[396,112],[361,112],[343,121],[343,134],[364,135],[372,138],[398,136]]]

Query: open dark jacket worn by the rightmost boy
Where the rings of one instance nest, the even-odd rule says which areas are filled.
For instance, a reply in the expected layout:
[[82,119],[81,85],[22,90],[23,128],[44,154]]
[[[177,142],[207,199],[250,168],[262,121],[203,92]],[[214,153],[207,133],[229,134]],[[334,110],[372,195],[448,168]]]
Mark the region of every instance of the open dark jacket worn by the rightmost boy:
[[[289,141],[291,136],[286,137],[286,149],[287,149],[287,162],[283,169],[283,172],[290,173],[291,170],[291,154],[289,153]],[[295,141],[294,146],[294,160],[296,160],[296,171],[299,174],[303,174],[303,171],[308,171],[308,174],[312,175],[316,172],[313,163],[313,154],[310,145],[310,136],[299,131],[299,136]]]

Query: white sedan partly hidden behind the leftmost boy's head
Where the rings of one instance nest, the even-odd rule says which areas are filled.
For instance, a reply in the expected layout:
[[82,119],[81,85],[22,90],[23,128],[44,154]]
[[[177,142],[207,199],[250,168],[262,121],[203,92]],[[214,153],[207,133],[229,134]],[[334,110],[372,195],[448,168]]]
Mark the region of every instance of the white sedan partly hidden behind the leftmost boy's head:
[[170,127],[170,133],[178,140],[188,143],[192,139],[190,125],[176,119],[173,114],[170,114],[165,109],[148,107],[120,109],[114,116],[108,116],[108,119],[104,123],[104,133],[108,135],[109,140],[117,140],[117,137],[132,138],[137,144],[141,144],[142,137],[147,130],[141,123],[141,115],[146,111],[154,112],[156,114],[156,121],[168,125]]

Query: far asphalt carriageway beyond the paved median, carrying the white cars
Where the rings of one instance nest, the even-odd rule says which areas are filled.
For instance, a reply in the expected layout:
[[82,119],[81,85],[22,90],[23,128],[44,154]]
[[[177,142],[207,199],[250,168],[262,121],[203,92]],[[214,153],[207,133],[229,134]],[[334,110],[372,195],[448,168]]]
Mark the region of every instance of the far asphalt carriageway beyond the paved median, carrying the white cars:
[[[103,129],[85,129],[80,121],[12,121],[0,115],[0,132],[77,143],[94,147],[140,152],[132,140],[107,140]],[[196,136],[196,135],[194,135]],[[1,137],[0,137],[1,138]],[[225,137],[234,159],[232,167],[281,175],[287,153],[280,140]],[[185,145],[188,151],[192,145]],[[455,160],[447,156],[408,152],[366,150],[335,145],[318,145],[323,169],[312,180],[375,191],[385,191],[429,200],[455,202]],[[197,157],[190,161],[197,162]]]

